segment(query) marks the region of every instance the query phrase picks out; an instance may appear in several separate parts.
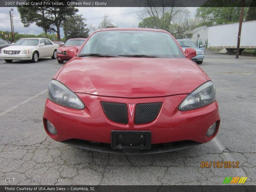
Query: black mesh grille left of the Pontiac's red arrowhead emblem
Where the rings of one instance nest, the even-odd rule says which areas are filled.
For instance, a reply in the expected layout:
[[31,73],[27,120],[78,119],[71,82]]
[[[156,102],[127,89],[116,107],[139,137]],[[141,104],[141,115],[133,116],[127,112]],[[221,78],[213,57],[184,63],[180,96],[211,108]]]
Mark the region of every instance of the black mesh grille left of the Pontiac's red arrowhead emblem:
[[101,106],[109,120],[128,124],[127,105],[125,103],[101,102]]

